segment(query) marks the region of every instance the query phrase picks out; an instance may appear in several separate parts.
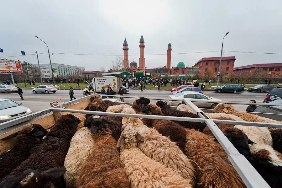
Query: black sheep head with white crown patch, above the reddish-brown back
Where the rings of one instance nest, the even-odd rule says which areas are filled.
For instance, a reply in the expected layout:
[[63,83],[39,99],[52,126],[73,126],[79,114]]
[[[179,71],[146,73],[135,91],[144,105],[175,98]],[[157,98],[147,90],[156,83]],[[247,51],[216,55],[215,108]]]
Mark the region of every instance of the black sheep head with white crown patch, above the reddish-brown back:
[[112,123],[112,121],[108,120],[107,118],[101,118],[98,115],[92,115],[84,121],[84,126],[89,128],[93,133],[100,133],[107,130],[110,123]]

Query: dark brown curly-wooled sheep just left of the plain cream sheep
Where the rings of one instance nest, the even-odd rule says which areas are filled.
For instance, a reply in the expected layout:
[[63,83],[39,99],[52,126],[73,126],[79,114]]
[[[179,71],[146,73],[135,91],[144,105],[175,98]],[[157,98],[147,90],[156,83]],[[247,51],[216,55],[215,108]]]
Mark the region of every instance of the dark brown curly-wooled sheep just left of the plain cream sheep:
[[[65,156],[70,147],[70,140],[76,133],[80,119],[74,115],[61,115],[56,123],[50,127],[50,132],[41,144],[35,146],[29,158],[15,168],[10,175],[16,175],[26,169],[38,171],[48,170],[64,165]],[[52,181],[55,187],[64,186],[64,178],[56,178]]]

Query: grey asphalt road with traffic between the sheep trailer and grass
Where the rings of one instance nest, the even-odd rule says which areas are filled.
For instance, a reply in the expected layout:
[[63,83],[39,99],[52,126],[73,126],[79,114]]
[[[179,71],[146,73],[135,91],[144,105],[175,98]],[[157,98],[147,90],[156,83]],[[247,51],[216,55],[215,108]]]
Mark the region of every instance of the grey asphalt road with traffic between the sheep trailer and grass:
[[[23,89],[23,97],[24,100],[20,100],[20,97],[17,93],[0,93],[0,98],[11,99],[15,102],[21,102],[23,106],[30,108],[33,112],[44,110],[50,107],[50,103],[53,101],[58,101],[59,103],[67,102],[70,100],[69,90],[58,90],[56,93],[49,94],[33,94],[29,89]],[[158,90],[130,90],[130,92],[126,95],[131,96],[143,96],[143,97],[161,97],[168,98],[170,91],[158,91]],[[251,99],[256,100],[257,102],[262,102],[267,93],[253,93],[253,92],[241,92],[237,94],[233,93],[215,93],[212,91],[204,91],[204,94],[210,97],[215,97],[221,99],[223,101],[242,101],[248,102]],[[74,90],[74,96],[76,98],[83,97],[81,90]],[[62,98],[59,101],[59,97]],[[119,98],[118,98],[119,99]],[[134,99],[125,98],[125,102],[132,103]],[[152,100],[155,103],[157,100]],[[234,105],[237,110],[245,110],[247,108],[246,105]]]

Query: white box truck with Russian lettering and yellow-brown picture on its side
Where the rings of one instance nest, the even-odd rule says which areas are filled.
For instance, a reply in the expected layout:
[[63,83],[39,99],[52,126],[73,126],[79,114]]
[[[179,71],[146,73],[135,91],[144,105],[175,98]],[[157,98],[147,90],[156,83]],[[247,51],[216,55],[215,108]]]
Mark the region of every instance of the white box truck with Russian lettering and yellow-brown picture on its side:
[[[115,93],[117,93],[120,86],[122,86],[122,78],[120,77],[96,77],[95,78],[94,77],[88,86],[90,85],[93,87],[94,93],[101,93],[102,87],[104,87],[104,89],[107,92],[108,86],[110,86],[112,90]],[[85,92],[87,91],[88,86],[82,90],[83,94],[85,94]]]

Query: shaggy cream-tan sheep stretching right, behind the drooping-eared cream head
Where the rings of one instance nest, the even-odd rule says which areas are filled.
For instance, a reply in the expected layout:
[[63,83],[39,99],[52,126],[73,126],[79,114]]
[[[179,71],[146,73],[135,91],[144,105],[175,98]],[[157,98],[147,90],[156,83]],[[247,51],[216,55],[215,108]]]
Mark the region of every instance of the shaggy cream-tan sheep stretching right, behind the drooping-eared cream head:
[[[135,111],[125,108],[121,113],[135,114]],[[185,179],[191,180],[191,185],[194,185],[194,168],[175,142],[159,134],[156,129],[145,126],[139,118],[123,117],[122,123],[131,124],[142,135],[144,142],[139,142],[138,148],[145,155],[165,164],[167,168],[177,170]]]

